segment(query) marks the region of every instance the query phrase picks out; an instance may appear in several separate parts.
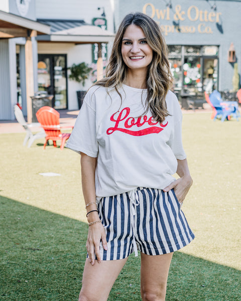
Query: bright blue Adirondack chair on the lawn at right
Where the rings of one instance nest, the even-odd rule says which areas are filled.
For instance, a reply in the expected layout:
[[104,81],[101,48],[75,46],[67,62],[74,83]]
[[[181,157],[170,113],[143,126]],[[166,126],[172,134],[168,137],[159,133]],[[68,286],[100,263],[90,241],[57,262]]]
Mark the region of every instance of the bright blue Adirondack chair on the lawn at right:
[[228,102],[222,102],[221,94],[217,91],[214,90],[210,95],[209,99],[213,105],[213,107],[216,109],[216,115],[214,116],[214,120],[217,118],[219,115],[221,117],[221,122],[223,122],[225,119],[229,119],[228,116],[232,115],[233,117],[236,117],[238,120],[239,116],[239,111],[238,108],[234,105],[229,105]]

